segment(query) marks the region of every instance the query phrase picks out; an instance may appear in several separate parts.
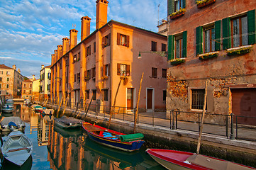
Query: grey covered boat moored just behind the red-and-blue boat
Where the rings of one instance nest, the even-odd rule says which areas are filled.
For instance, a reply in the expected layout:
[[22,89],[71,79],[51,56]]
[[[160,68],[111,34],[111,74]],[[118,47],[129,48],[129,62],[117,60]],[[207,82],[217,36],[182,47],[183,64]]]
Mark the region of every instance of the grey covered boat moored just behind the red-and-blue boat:
[[65,115],[62,118],[55,118],[54,123],[60,128],[80,128],[82,126],[82,120]]

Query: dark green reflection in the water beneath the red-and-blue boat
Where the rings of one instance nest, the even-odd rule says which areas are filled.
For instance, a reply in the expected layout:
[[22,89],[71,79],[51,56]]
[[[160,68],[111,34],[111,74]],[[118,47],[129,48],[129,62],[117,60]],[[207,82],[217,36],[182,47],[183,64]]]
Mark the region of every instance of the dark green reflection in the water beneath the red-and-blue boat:
[[107,158],[113,162],[120,162],[120,169],[125,169],[128,166],[134,167],[144,161],[140,152],[120,152],[117,149],[99,145],[98,143],[91,141],[89,137],[85,140],[84,147],[95,154],[99,154],[101,157]]

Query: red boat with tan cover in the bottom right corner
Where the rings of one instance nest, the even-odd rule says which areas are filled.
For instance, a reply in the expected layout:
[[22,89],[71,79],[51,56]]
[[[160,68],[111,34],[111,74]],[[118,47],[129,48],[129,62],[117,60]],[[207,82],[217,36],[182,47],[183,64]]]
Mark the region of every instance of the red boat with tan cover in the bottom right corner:
[[169,149],[147,149],[146,152],[166,169],[218,169],[218,170],[252,170],[255,168],[228,162],[223,159],[202,154],[182,152]]

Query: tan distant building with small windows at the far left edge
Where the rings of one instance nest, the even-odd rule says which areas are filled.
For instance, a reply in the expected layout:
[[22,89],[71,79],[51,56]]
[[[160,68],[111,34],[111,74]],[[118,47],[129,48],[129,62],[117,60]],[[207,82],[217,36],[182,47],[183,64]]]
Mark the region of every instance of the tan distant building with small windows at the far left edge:
[[8,98],[21,98],[21,86],[24,80],[20,69],[16,70],[16,65],[7,67],[0,64],[0,93]]

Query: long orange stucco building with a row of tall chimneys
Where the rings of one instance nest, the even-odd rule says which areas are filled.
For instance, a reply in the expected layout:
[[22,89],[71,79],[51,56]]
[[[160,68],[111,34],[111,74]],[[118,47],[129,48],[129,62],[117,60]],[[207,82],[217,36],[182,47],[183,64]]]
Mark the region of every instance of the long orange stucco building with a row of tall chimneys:
[[68,96],[74,105],[93,98],[92,104],[113,106],[116,96],[116,106],[135,108],[144,72],[139,108],[165,108],[167,59],[150,51],[165,53],[167,37],[112,20],[107,23],[108,1],[96,1],[96,6],[99,28],[88,35],[90,19],[82,17],[82,41],[77,44],[78,31],[70,30],[52,55],[52,100]]

